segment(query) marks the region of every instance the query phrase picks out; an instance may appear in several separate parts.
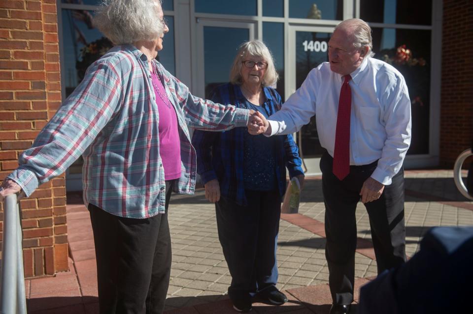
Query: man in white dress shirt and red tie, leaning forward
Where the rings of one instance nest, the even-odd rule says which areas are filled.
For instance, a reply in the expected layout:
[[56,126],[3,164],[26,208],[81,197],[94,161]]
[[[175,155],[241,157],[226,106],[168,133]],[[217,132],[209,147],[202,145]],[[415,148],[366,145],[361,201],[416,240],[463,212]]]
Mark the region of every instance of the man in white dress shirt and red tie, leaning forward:
[[[353,301],[357,202],[368,211],[378,274],[405,262],[403,161],[411,138],[404,77],[372,58],[371,29],[343,21],[329,41],[329,62],[312,69],[282,109],[252,134],[299,131],[315,115],[325,201],[325,255],[331,314]],[[263,120],[263,119],[262,119]]]

